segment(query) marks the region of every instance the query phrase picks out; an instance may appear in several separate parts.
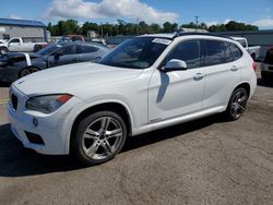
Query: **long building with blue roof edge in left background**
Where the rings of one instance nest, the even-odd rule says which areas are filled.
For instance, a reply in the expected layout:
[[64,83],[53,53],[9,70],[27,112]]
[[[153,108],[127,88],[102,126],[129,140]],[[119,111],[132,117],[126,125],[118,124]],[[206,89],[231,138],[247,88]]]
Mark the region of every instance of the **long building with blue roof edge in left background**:
[[0,39],[22,37],[29,41],[47,41],[47,26],[38,21],[0,19]]

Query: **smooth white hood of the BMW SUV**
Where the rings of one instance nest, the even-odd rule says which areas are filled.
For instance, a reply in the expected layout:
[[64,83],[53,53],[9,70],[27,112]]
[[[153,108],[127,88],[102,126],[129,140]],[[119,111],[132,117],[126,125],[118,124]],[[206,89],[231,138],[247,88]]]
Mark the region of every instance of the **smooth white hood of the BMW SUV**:
[[81,88],[98,88],[99,85],[133,79],[141,72],[84,62],[39,71],[17,80],[13,85],[28,96],[56,93],[76,95]]

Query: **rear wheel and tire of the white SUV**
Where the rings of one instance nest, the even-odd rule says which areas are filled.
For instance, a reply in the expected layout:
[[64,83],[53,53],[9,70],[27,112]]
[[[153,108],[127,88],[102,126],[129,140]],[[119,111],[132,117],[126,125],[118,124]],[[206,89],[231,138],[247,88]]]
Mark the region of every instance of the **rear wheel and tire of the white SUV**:
[[238,120],[245,112],[248,101],[248,93],[244,87],[238,87],[234,91],[225,116],[228,120],[235,121]]

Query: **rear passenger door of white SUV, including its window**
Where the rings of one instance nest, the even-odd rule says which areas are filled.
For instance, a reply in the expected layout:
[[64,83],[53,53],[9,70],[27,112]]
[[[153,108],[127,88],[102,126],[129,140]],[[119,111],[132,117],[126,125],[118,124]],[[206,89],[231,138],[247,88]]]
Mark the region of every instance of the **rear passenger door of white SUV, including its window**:
[[240,60],[233,57],[229,43],[202,40],[202,44],[206,50],[203,109],[226,106],[234,87],[241,79]]

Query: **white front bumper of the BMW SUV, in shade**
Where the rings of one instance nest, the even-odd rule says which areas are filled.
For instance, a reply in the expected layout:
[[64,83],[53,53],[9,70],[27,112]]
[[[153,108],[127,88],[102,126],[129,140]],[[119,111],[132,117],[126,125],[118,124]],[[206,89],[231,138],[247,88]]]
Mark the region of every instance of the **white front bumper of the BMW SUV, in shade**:
[[[11,130],[13,134],[23,143],[24,147],[36,150],[46,155],[66,155],[69,154],[67,149],[67,136],[66,136],[66,121],[68,107],[74,101],[68,101],[57,111],[45,114],[34,110],[25,109],[25,102],[28,99],[26,95],[21,93],[14,86],[11,91],[17,97],[16,110],[10,101],[8,105],[8,117],[11,123]],[[79,99],[74,99],[79,100]],[[64,106],[67,108],[64,108]],[[64,111],[66,110],[66,111]],[[38,124],[35,125],[34,119]],[[26,136],[26,132],[39,135],[44,144],[35,144],[29,142]]]

